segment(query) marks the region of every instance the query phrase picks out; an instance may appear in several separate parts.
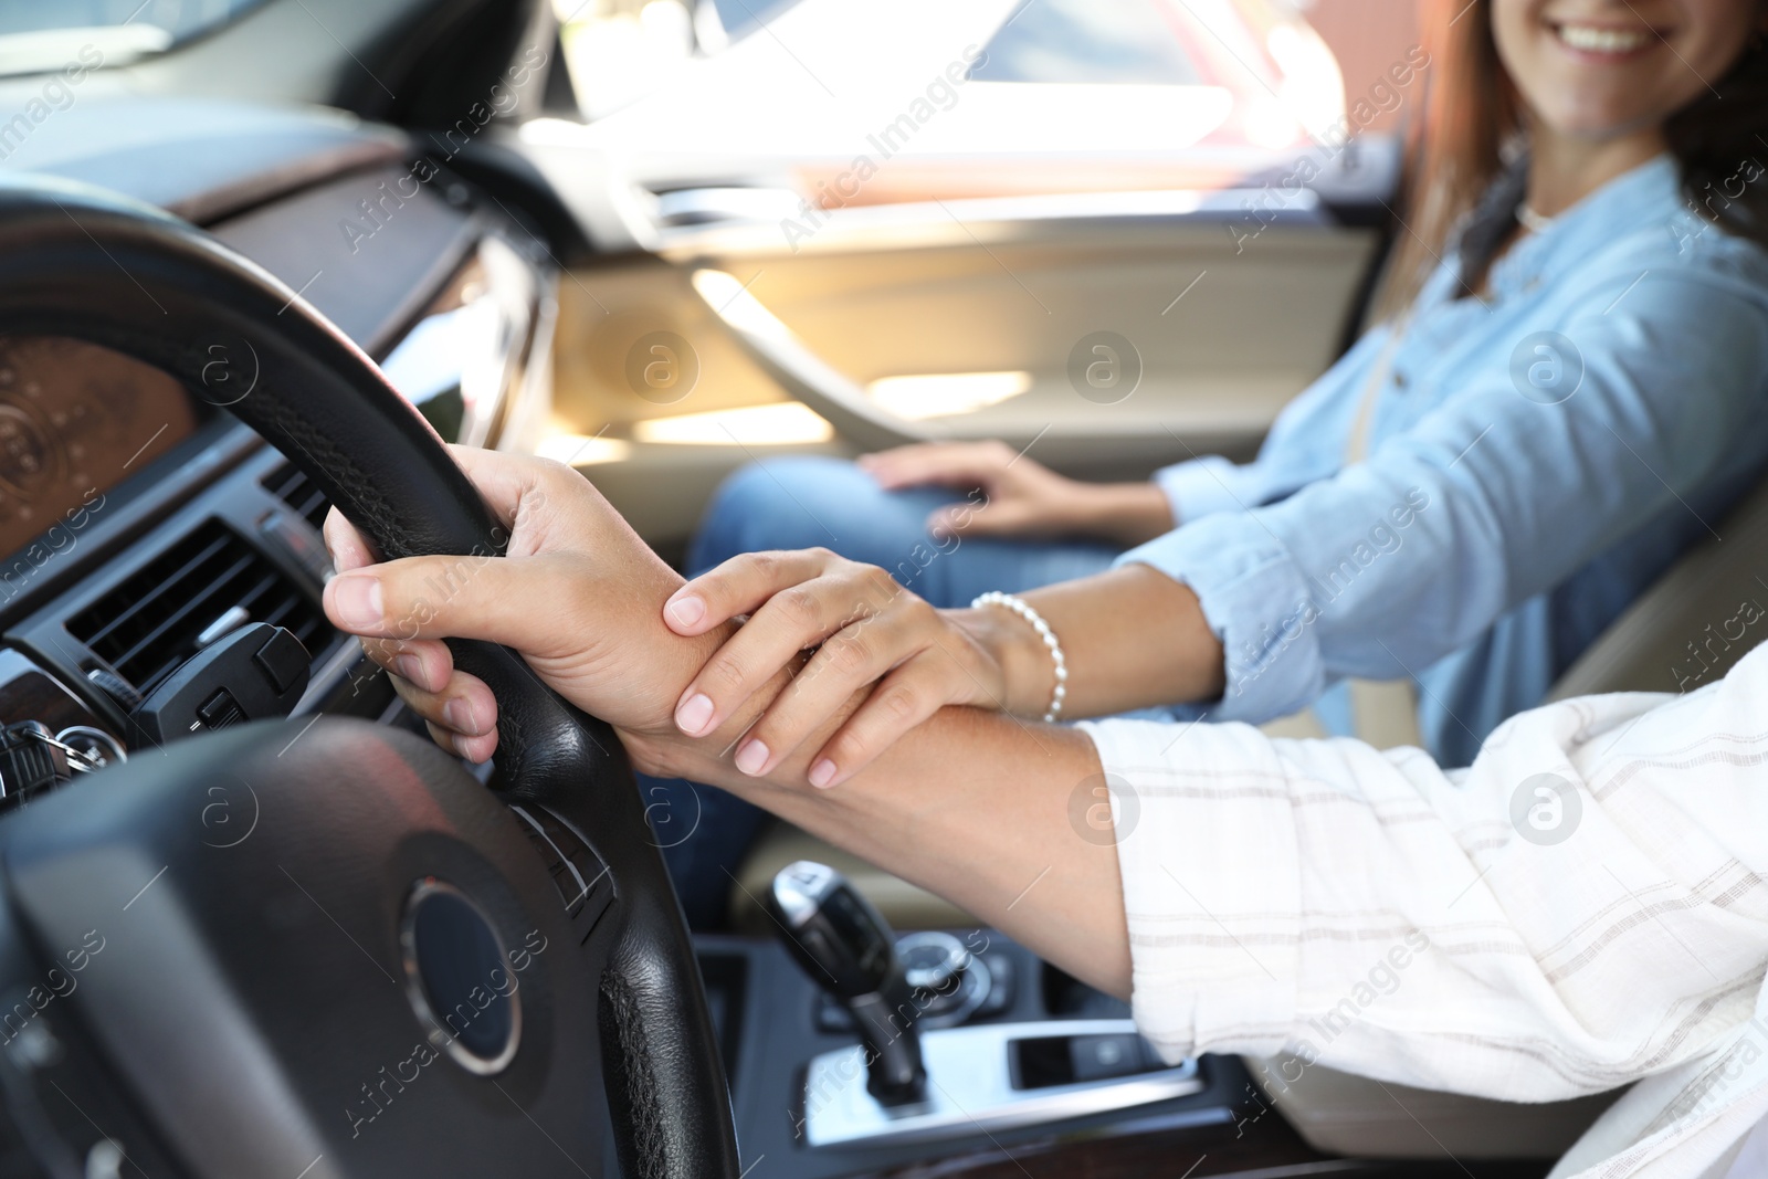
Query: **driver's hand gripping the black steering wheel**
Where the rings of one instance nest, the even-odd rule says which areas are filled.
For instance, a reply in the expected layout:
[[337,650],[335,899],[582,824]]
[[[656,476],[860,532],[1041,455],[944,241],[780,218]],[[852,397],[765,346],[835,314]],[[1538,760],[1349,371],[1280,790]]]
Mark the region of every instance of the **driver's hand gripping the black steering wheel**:
[[661,605],[681,574],[569,467],[449,449],[509,529],[507,555],[375,564],[362,536],[332,509],[331,620],[362,636],[437,744],[469,760],[497,749],[497,700],[454,668],[446,636],[514,647],[548,688],[622,735],[674,737],[681,686],[723,640],[720,629],[682,638],[663,626]]

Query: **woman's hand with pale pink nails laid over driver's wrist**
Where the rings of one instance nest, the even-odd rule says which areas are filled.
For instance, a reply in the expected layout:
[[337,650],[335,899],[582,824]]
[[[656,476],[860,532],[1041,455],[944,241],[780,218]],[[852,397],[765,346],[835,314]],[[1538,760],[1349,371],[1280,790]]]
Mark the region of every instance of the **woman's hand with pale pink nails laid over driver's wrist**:
[[995,619],[983,613],[934,610],[877,566],[822,548],[734,557],[663,608],[670,629],[690,636],[750,615],[681,693],[675,725],[688,737],[709,734],[797,666],[735,748],[737,769],[762,776],[870,688],[810,755],[810,783],[838,785],[948,704],[1008,709],[1010,656],[990,642]]

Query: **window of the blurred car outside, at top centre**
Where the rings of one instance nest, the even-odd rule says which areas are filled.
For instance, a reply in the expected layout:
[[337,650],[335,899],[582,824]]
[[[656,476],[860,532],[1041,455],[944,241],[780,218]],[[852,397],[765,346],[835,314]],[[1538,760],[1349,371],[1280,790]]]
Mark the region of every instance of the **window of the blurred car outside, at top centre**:
[[1195,85],[1174,19],[1163,0],[1029,0],[988,41],[971,78]]

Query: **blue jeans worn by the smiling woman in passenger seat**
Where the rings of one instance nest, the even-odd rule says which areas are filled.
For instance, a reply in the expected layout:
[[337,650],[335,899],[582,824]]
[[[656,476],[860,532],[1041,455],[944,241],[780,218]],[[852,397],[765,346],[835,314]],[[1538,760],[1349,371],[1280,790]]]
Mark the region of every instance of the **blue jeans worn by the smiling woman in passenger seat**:
[[[946,537],[926,516],[960,500],[944,488],[884,491],[872,475],[834,458],[776,458],[744,467],[713,497],[688,550],[688,576],[737,553],[827,548],[889,569],[935,606],[967,606],[978,594],[1068,582],[1110,567],[1109,544]],[[688,921],[714,928],[725,896],[766,813],[688,781],[640,776],[647,815],[668,861]]]

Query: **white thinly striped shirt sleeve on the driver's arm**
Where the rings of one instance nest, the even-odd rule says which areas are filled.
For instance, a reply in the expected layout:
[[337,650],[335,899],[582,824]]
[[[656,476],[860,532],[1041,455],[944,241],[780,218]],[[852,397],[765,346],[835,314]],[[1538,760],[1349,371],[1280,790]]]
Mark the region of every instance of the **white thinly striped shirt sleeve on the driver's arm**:
[[1512,718],[1469,771],[1239,723],[1084,725],[1139,1029],[1169,1061],[1282,1053],[1278,1091],[1321,1062],[1506,1101],[1724,1046],[1768,962],[1764,691],[1768,647],[1697,693]]

